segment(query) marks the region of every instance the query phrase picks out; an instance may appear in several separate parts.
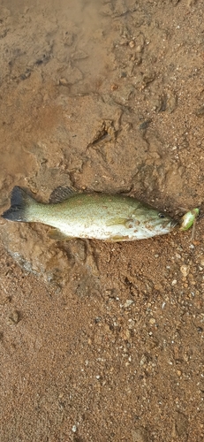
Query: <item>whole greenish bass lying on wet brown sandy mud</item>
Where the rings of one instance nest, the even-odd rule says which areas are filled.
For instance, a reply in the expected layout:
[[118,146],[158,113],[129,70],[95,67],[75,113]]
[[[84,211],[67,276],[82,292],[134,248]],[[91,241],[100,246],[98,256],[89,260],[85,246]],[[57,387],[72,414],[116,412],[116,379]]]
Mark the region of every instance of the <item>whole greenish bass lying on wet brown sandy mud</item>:
[[2,217],[22,223],[49,225],[49,238],[144,240],[172,231],[178,224],[169,215],[122,194],[79,193],[72,187],[57,187],[42,203],[19,186],[11,191],[11,207]]

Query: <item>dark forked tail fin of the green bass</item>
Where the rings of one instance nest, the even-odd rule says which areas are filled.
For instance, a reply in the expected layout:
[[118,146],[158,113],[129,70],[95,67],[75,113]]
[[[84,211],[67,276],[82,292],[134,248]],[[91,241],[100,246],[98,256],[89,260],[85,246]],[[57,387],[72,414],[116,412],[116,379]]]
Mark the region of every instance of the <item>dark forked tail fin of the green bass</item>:
[[34,204],[34,198],[21,189],[19,186],[15,186],[11,192],[11,207],[6,210],[2,217],[9,219],[10,221],[28,222],[28,208],[31,204]]

